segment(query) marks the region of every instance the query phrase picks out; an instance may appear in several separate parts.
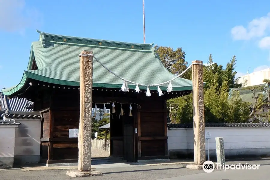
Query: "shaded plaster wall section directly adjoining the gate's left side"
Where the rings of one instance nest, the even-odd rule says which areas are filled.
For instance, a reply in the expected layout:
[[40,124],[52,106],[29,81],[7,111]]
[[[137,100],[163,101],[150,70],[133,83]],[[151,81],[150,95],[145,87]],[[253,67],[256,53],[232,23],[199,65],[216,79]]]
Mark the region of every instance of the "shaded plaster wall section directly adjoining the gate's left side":
[[15,130],[15,156],[39,156],[41,121],[39,119],[16,119],[21,122]]

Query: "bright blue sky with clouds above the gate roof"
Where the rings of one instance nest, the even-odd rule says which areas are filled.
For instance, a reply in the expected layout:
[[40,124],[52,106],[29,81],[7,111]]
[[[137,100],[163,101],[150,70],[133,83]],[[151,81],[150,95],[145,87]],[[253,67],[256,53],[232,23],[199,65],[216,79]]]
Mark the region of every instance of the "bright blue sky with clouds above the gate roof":
[[[270,1],[145,0],[146,43],[182,47],[186,60],[243,75],[270,66]],[[59,35],[143,43],[142,0],[0,0],[0,88],[19,83],[39,29]]]

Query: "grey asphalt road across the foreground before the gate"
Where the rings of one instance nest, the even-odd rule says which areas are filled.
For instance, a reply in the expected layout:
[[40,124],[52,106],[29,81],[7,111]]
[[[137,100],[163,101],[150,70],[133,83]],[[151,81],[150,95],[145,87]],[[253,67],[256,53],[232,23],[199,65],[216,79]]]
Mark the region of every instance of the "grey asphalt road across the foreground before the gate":
[[[214,170],[205,173],[203,170],[182,168],[182,165],[160,165],[95,169],[103,176],[76,178],[78,180],[256,180],[269,179],[270,165],[261,165],[259,170]],[[67,170],[2,170],[1,180],[71,180]]]

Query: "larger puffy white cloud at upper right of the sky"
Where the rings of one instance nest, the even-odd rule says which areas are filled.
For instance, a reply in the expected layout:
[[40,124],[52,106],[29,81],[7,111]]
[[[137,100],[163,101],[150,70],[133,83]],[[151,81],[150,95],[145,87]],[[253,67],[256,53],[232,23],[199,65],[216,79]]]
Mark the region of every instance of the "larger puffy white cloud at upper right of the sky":
[[231,29],[233,40],[250,40],[265,36],[266,31],[270,29],[270,13],[250,21],[245,28],[244,26],[235,26]]

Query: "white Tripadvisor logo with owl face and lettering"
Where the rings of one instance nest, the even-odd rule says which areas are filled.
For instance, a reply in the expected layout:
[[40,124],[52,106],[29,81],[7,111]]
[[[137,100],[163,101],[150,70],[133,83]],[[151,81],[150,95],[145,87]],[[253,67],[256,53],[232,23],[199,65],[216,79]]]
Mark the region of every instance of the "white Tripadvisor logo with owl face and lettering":
[[232,165],[228,165],[228,164],[214,164],[212,161],[205,161],[202,165],[202,169],[206,172],[206,173],[211,173],[214,171],[215,166],[217,166],[218,170],[258,170],[259,169],[259,164],[232,164]]

